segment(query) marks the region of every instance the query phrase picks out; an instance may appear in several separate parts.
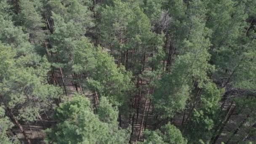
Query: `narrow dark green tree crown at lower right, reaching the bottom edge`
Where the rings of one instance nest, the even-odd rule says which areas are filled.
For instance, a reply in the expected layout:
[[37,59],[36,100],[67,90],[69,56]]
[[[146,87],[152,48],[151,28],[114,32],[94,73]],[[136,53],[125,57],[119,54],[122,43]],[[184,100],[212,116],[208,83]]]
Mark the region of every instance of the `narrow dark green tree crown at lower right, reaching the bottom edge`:
[[209,141],[214,125],[219,123],[219,101],[224,90],[208,82],[203,85],[199,104],[193,109],[192,120],[187,124],[187,136],[189,141]]

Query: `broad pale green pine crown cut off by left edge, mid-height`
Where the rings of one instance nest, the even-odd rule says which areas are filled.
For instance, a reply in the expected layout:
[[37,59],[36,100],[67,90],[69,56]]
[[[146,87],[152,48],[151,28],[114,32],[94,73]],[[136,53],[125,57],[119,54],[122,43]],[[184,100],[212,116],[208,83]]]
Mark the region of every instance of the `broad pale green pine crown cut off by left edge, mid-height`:
[[[35,53],[17,56],[16,49],[0,44],[0,94],[6,107],[16,108],[20,120],[34,121],[44,102],[59,96],[59,88],[46,84],[49,64]],[[41,102],[36,103],[35,99]],[[33,100],[33,101],[31,101]],[[35,108],[36,107],[36,108]]]

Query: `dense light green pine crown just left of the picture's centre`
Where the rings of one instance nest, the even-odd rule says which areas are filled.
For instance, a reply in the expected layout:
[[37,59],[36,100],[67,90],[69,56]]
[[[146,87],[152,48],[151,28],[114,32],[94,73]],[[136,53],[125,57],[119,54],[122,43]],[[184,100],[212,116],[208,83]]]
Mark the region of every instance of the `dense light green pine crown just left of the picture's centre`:
[[[127,101],[128,91],[133,87],[131,73],[124,67],[117,68],[114,59],[101,51],[95,53],[96,65],[93,72],[88,72],[91,79],[86,83],[92,91],[106,96],[112,104],[120,106]],[[96,84],[96,85],[95,85]]]

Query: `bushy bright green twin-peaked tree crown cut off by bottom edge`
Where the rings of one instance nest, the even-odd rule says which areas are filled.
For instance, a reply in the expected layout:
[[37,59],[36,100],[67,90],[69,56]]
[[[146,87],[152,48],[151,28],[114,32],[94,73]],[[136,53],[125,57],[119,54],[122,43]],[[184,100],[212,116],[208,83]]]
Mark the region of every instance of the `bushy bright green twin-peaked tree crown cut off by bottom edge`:
[[[56,109],[59,123],[47,129],[46,142],[56,144],[127,143],[128,133],[118,128],[117,110],[101,98],[99,116],[93,114],[90,101],[75,96]],[[102,120],[102,121],[101,121]]]

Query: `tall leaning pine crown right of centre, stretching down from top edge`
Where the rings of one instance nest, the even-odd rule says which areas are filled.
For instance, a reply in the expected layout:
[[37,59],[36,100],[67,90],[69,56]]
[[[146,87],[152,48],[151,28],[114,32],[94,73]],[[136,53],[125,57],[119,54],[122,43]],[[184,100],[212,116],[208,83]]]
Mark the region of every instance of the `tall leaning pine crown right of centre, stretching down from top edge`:
[[[209,80],[208,73],[214,69],[208,64],[210,60],[208,49],[211,44],[206,38],[209,29],[205,28],[204,19],[201,18],[205,14],[203,5],[200,0],[190,4],[187,10],[189,17],[185,23],[189,27],[189,29],[186,27],[188,35],[179,48],[180,53],[184,54],[176,58],[171,73],[162,77],[153,95],[155,107],[165,115],[164,117],[172,117],[185,108],[195,84],[197,88],[194,94],[198,97],[198,90],[203,88],[204,83]],[[194,9],[195,7],[198,9]]]

